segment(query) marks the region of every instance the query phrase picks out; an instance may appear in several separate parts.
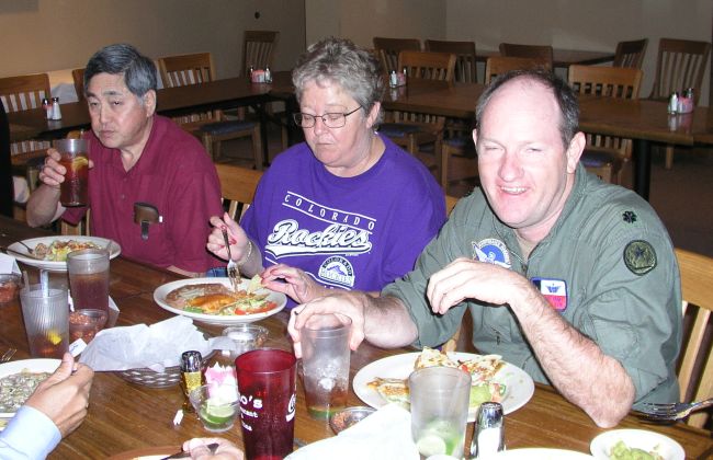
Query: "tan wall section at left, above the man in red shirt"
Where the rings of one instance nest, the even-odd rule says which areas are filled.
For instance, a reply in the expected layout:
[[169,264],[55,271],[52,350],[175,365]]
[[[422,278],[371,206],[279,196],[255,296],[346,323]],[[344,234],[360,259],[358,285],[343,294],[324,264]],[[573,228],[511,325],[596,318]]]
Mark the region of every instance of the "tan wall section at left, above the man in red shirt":
[[245,30],[280,31],[275,70],[284,70],[304,50],[304,26],[296,0],[1,0],[0,77],[83,67],[117,42],[152,58],[211,51],[218,77],[233,77]]

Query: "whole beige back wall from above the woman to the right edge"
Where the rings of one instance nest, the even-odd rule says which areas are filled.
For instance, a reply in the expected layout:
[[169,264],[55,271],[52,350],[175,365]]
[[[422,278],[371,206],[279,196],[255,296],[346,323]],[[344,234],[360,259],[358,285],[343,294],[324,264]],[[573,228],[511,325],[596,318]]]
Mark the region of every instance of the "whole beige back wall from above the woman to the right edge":
[[[647,37],[647,96],[660,37],[711,39],[711,0],[305,0],[307,42],[328,35],[371,47],[373,36],[474,41],[494,50],[500,42],[556,48],[611,50]],[[710,66],[710,64],[709,64]],[[710,73],[701,102],[708,105]]]

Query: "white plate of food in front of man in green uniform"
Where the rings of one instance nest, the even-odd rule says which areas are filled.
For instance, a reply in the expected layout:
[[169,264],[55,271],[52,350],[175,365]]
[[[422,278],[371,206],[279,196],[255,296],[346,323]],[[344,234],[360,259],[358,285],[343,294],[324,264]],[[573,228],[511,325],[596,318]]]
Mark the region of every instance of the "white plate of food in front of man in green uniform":
[[471,373],[468,422],[475,419],[482,402],[499,402],[509,414],[522,407],[534,393],[532,378],[498,355],[444,354],[428,347],[420,353],[389,356],[364,366],[354,376],[352,387],[359,399],[372,407],[378,409],[389,402],[407,406],[408,376],[416,369],[431,366],[459,367]]

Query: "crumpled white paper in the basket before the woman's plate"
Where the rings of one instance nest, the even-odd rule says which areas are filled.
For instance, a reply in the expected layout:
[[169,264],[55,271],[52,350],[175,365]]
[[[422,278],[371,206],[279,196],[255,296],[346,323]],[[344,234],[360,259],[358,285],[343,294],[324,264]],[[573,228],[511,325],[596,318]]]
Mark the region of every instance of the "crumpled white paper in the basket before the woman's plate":
[[148,367],[163,372],[178,366],[188,349],[206,356],[213,349],[234,349],[228,337],[205,340],[186,317],[174,317],[156,324],[136,324],[100,331],[81,354],[80,363],[95,371],[114,371]]

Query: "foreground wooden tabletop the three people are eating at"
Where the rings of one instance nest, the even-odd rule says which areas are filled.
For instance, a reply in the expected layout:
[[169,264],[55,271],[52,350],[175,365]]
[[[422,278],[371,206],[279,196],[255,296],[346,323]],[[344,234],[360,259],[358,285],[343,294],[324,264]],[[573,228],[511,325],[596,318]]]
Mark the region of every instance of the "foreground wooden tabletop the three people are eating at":
[[[24,223],[0,216],[0,248],[32,238],[46,237],[46,230],[31,229]],[[22,266],[32,278],[34,268]],[[53,275],[63,279],[66,274]],[[172,317],[154,302],[154,290],[172,280],[180,279],[173,273],[147,266],[125,257],[111,262],[110,295],[121,313],[116,326],[152,324]],[[268,347],[292,349],[286,332],[287,312],[280,312],[259,322],[268,327]],[[222,326],[197,324],[204,331],[219,334]],[[30,358],[27,341],[18,301],[0,306],[0,350],[18,348],[14,359]],[[396,354],[412,352],[410,348],[381,349],[363,343],[351,355],[350,373],[354,377],[365,365]],[[602,394],[602,398],[606,398]],[[89,413],[82,425],[49,456],[50,459],[105,458],[134,449],[167,447],[166,452],[179,450],[180,445],[193,437],[211,436],[192,414],[186,414],[180,426],[173,426],[176,412],[183,403],[183,393],[177,387],[154,389],[128,382],[115,372],[97,372],[91,389]],[[353,389],[349,392],[350,405],[363,405]],[[678,441],[689,459],[713,456],[713,439],[708,430],[682,423],[652,425],[633,415],[625,417],[616,428],[653,430]],[[472,434],[468,426],[468,438]],[[536,384],[534,395],[506,416],[505,439],[508,449],[547,447],[589,452],[590,441],[606,429],[595,423],[577,406],[567,402],[553,388]],[[242,446],[239,424],[223,434],[227,439]],[[304,445],[333,436],[328,424],[308,416],[302,382],[297,383],[297,410],[295,444]]]

